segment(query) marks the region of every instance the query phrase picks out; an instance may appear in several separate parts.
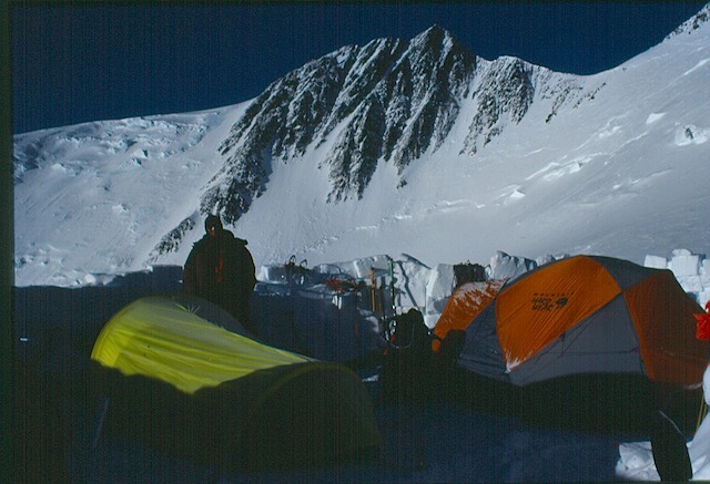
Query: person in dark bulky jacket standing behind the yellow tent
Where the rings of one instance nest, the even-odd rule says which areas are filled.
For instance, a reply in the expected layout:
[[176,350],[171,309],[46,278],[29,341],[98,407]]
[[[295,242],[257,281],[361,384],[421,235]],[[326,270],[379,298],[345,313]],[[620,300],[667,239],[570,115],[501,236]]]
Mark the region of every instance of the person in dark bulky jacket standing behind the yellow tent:
[[207,216],[204,229],[185,261],[184,291],[221,306],[255,334],[251,298],[256,269],[246,240],[222,228],[217,215]]

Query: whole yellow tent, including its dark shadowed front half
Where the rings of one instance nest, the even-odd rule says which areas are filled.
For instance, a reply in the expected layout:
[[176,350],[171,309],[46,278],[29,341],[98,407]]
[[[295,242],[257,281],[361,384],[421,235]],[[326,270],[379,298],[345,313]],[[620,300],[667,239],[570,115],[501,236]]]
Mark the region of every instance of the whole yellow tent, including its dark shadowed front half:
[[199,298],[130,303],[91,359],[109,402],[105,431],[162,451],[253,468],[368,459],[382,447],[352,370],[258,342]]

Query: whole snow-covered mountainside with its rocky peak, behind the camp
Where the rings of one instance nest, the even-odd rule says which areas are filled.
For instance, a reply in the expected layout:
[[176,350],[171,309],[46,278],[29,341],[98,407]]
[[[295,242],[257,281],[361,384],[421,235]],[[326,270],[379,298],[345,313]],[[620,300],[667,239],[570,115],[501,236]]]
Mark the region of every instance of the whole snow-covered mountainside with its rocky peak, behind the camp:
[[258,265],[704,254],[709,11],[590,76],[487,61],[435,25],[243,104],[18,135],[16,282],[181,265],[213,210]]

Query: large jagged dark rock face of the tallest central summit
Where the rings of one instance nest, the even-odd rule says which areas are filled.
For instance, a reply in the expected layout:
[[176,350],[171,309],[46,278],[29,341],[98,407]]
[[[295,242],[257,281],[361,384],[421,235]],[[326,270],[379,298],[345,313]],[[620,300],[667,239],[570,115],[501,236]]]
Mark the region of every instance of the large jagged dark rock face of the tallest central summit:
[[435,25],[408,45],[379,39],[346,47],[286,74],[220,147],[227,158],[202,210],[234,223],[263,193],[272,159],[297,158],[328,140],[328,200],[362,197],[381,161],[402,169],[442,143],[474,66],[474,55]]

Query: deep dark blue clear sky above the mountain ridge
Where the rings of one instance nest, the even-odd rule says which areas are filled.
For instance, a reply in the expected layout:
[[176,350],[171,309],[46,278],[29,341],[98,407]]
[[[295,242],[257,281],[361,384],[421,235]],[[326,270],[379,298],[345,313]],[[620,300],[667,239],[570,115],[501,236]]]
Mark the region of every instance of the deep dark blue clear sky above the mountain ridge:
[[589,74],[656,45],[703,1],[11,4],[14,133],[246,101],[346,44],[433,24],[493,60]]

